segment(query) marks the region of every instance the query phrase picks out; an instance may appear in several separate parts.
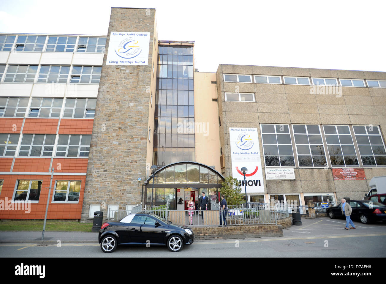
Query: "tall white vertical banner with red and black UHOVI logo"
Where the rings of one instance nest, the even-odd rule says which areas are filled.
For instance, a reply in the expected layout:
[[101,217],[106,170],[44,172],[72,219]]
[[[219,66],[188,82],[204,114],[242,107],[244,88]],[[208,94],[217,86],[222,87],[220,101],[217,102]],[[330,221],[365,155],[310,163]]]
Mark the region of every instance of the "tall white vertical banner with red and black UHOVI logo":
[[240,181],[244,192],[245,183],[241,168],[246,167],[247,192],[264,192],[257,128],[230,127],[229,137],[233,177]]

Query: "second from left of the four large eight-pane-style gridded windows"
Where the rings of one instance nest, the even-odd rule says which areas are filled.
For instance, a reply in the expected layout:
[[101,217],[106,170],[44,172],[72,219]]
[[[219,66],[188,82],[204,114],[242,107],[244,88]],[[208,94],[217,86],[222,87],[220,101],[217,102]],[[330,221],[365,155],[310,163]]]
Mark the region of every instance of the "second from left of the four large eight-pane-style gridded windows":
[[299,167],[327,165],[318,125],[292,125]]

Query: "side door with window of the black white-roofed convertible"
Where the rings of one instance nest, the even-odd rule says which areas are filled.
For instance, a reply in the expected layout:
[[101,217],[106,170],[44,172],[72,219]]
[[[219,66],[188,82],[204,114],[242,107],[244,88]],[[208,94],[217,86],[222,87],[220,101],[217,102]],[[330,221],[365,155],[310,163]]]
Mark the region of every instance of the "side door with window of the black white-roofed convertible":
[[133,243],[164,243],[165,230],[161,223],[147,215],[135,215],[129,227]]

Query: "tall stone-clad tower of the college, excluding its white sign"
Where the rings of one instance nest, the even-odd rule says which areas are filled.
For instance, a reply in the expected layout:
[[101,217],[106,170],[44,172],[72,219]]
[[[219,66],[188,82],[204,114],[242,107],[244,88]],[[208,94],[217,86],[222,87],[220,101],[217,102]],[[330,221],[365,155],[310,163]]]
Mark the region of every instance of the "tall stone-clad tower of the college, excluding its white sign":
[[[107,64],[109,49],[115,49],[110,46],[112,32],[149,33],[147,65]],[[112,8],[91,137],[83,222],[90,221],[98,206],[107,217],[108,207],[125,210],[127,204],[141,203],[138,179],[146,179],[152,158],[157,41],[155,9]]]

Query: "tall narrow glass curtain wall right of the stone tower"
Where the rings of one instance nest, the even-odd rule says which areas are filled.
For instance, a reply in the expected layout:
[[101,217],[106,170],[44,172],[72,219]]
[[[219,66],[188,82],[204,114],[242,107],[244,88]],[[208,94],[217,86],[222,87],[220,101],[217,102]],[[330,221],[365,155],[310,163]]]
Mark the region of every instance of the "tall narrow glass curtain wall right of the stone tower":
[[195,161],[193,46],[159,45],[153,164]]

